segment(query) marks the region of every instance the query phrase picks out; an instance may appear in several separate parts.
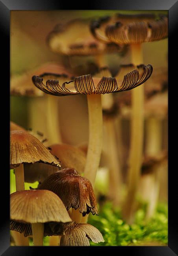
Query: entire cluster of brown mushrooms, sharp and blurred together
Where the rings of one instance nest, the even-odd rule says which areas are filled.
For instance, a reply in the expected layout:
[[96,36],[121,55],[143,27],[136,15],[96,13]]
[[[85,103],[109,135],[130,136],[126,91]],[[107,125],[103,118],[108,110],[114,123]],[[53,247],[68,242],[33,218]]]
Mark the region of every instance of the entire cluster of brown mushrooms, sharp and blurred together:
[[[155,109],[159,108],[154,102],[148,103],[146,112],[143,84],[148,84],[146,88],[149,81],[153,84],[146,92],[148,100],[162,97],[167,88],[160,80],[155,88],[158,75],[154,78],[152,65],[143,64],[142,44],[165,39],[167,33],[165,15],[118,13],[98,19],[70,20],[57,24],[46,37],[50,50],[66,57],[66,66],[49,62],[23,76],[12,77],[11,95],[34,96],[36,102],[43,98],[47,130],[46,142],[41,134],[33,132],[34,127],[32,131],[25,130],[11,122],[10,169],[14,169],[16,192],[10,195],[10,230],[15,245],[28,246],[32,237],[34,246],[43,246],[44,236],[50,236],[50,245],[59,246],[89,246],[89,239],[94,243],[104,242],[100,231],[87,223],[89,213],[98,215],[94,191],[96,174],[102,165],[109,168],[108,197],[121,206],[123,219],[128,223],[133,221],[139,182],[152,177],[152,197],[146,198],[147,217],[152,215],[156,206],[155,189],[158,190],[160,182],[155,169],[167,159],[167,152],[161,152],[160,142],[155,139],[160,132],[157,116],[164,117],[167,106],[164,113],[157,115]],[[122,58],[128,52],[132,63],[115,67],[113,75],[105,55],[117,53]],[[74,63],[75,56],[83,58],[82,66]],[[87,56],[92,56],[95,62],[85,63]],[[162,74],[159,76],[163,78]],[[124,97],[124,91],[130,94]],[[75,95],[87,97],[87,145],[65,144],[60,133],[58,101],[61,96]],[[35,115],[38,109],[32,109],[31,115]],[[130,119],[129,161],[123,154],[119,157],[122,147],[117,143],[117,129],[121,115]],[[144,159],[145,118],[150,147]],[[124,164],[128,169],[128,184],[123,198],[121,165]],[[38,187],[25,190],[24,182],[35,181],[39,182]],[[144,195],[143,189],[140,193]]]

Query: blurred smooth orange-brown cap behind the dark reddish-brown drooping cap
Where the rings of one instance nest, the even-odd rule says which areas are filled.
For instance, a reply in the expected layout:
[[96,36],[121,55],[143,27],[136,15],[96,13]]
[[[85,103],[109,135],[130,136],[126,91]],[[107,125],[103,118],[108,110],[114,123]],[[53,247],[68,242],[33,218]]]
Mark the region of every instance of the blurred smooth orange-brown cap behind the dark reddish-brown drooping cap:
[[50,146],[50,152],[61,160],[61,166],[74,168],[77,173],[83,173],[86,162],[85,153],[78,147],[67,144],[54,144]]

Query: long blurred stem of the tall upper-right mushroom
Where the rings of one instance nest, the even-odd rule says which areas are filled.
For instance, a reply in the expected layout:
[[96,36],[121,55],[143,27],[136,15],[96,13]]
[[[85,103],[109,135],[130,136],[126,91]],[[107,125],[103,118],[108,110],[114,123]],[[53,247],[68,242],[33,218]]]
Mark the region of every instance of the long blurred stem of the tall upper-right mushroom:
[[[130,45],[132,63],[140,65],[143,63],[141,44]],[[143,130],[144,130],[144,86],[138,86],[132,90],[132,118],[131,139],[128,167],[128,193],[123,206],[123,217],[132,223],[135,207],[135,195],[141,173],[143,155]]]

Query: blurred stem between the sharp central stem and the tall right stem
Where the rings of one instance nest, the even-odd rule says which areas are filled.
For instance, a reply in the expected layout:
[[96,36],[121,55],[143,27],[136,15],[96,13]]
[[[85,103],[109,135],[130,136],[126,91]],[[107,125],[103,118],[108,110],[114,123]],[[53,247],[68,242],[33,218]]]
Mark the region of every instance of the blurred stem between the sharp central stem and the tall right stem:
[[115,123],[113,119],[105,121],[107,130],[107,147],[109,156],[109,197],[113,200],[113,204],[117,205],[121,202],[121,167],[118,159],[118,145],[115,134]]

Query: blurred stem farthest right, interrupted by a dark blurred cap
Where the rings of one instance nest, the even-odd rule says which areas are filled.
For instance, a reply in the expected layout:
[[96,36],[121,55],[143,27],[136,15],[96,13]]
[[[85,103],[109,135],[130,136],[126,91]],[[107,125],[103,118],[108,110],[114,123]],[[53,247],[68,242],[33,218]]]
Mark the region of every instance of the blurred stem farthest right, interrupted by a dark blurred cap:
[[[146,120],[146,148],[145,153],[148,156],[155,156],[161,151],[162,146],[162,131],[161,120],[156,117],[149,117]],[[152,180],[152,187],[149,187],[148,192],[148,208],[146,211],[146,218],[152,217],[156,208],[156,203],[159,196],[159,177],[157,170],[150,174]]]

